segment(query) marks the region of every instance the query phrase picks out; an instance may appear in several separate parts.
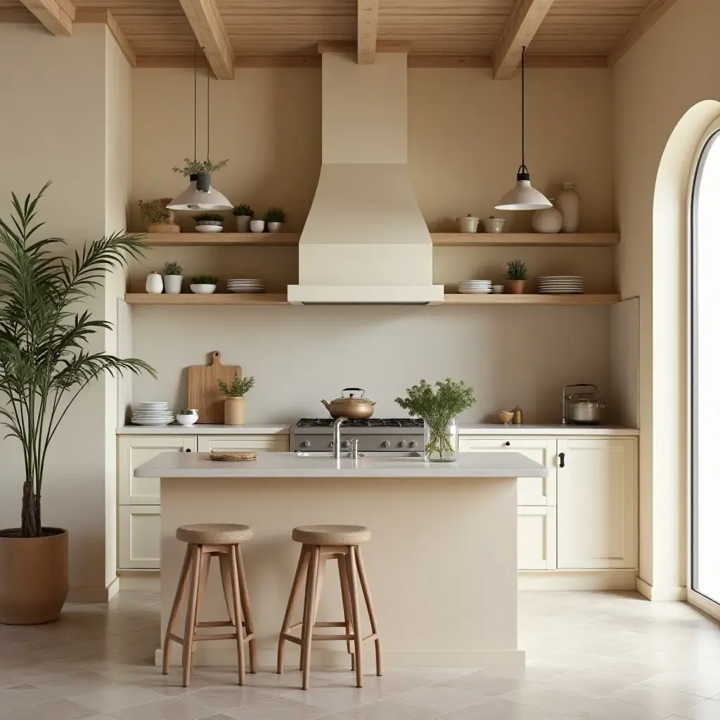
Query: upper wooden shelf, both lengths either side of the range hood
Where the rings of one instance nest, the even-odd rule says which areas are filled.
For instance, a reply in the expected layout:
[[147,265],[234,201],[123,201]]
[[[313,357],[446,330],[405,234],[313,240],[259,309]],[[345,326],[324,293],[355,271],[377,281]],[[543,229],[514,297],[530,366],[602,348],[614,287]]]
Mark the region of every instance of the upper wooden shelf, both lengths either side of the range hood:
[[[487,246],[606,247],[620,242],[618,233],[431,233],[433,246],[474,248]],[[300,233],[148,233],[153,248],[193,246],[292,247]]]

